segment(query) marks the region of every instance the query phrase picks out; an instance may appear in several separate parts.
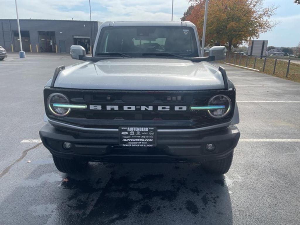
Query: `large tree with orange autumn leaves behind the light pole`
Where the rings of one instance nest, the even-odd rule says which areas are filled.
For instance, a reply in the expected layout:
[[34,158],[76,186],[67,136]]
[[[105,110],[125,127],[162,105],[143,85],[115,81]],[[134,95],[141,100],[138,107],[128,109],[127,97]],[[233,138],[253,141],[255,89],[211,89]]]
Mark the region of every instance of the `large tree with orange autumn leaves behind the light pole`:
[[[258,38],[260,33],[271,30],[278,22],[270,18],[277,7],[263,6],[264,0],[209,0],[205,44],[225,45],[231,51],[243,41]],[[203,32],[205,0],[190,0],[192,7],[182,20],[197,26],[200,39]]]

